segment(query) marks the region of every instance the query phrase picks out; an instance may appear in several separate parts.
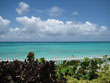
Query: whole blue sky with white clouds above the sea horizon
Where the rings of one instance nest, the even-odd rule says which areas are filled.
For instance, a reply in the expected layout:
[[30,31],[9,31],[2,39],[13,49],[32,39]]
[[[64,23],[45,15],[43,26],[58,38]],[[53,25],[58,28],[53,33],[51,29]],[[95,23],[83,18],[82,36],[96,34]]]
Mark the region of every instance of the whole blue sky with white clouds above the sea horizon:
[[110,41],[110,0],[0,0],[0,41]]

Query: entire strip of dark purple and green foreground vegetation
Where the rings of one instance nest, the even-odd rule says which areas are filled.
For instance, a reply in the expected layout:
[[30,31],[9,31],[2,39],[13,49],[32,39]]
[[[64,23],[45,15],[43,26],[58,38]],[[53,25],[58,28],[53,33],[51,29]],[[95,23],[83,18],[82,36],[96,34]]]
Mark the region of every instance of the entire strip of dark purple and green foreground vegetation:
[[110,56],[63,61],[55,65],[45,58],[0,62],[0,83],[110,83]]

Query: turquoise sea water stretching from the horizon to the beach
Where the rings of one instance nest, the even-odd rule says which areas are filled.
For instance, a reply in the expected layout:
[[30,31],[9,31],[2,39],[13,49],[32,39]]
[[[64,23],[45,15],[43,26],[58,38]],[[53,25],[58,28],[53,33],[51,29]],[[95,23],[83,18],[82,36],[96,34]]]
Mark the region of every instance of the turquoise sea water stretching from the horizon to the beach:
[[30,51],[37,58],[103,56],[110,54],[110,42],[0,43],[0,58],[26,58]]

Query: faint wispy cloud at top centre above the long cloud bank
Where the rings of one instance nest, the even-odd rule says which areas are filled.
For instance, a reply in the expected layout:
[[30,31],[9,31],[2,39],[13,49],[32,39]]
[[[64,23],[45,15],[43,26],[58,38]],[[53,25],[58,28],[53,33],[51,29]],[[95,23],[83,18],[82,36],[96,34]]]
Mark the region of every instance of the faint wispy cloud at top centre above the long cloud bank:
[[63,9],[59,8],[58,6],[53,6],[52,8],[48,9],[49,16],[60,16],[63,13]]

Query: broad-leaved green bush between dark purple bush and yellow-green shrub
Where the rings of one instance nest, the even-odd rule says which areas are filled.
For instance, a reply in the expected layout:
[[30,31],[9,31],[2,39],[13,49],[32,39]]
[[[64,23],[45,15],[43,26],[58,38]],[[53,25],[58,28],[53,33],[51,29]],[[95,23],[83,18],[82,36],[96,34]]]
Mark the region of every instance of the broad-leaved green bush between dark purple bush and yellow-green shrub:
[[[72,60],[63,62],[59,65],[60,71],[64,76],[72,76],[78,80],[93,80],[99,77],[98,71],[101,71],[103,59],[100,58],[85,58],[83,62]],[[63,76],[63,77],[64,77]]]

